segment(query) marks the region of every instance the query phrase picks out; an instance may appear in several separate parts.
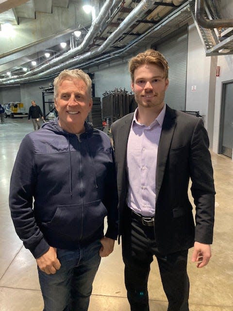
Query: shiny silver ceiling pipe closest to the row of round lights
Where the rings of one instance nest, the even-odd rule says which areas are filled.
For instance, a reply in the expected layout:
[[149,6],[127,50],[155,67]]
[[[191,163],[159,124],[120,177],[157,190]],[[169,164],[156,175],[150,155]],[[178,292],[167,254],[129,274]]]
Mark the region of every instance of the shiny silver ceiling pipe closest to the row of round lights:
[[63,55],[61,55],[60,57],[57,57],[53,60],[51,60],[50,62],[48,62],[45,65],[42,65],[36,69],[33,69],[27,73],[25,73],[23,75],[23,77],[27,77],[27,76],[31,76],[31,75],[35,75],[38,74],[40,72],[43,72],[47,69],[50,69],[51,67],[58,65],[64,61],[66,61],[67,59],[70,59],[71,57],[76,56],[78,53],[83,52],[88,45],[92,42],[92,40],[94,39],[95,35],[98,34],[98,32],[100,31],[101,27],[104,25],[104,23],[106,22],[106,20],[108,19],[108,13],[111,10],[111,8],[116,4],[119,5],[120,2],[122,0],[107,0],[104,5],[102,6],[101,10],[100,10],[100,14],[98,15],[98,17],[92,22],[92,25],[87,33],[87,35],[85,36],[85,38],[83,39],[83,42],[76,48],[74,48],[73,50],[71,49],[70,51],[64,53]]

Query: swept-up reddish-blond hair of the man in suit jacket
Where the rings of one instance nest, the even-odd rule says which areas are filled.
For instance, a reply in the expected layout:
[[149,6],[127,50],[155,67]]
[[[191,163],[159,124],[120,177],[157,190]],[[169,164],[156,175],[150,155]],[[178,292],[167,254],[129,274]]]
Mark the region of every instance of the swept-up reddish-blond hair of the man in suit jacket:
[[131,75],[131,80],[133,82],[133,74],[135,69],[137,69],[141,65],[152,64],[158,66],[160,69],[164,71],[163,78],[168,79],[168,64],[164,57],[164,55],[155,50],[147,50],[145,52],[141,52],[136,56],[132,57],[129,61],[129,71]]

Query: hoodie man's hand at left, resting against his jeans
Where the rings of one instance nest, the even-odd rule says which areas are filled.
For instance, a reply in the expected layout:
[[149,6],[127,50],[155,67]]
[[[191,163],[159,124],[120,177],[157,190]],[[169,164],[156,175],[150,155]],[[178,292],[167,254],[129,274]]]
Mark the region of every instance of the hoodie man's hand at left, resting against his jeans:
[[57,259],[57,250],[51,246],[47,253],[36,259],[36,262],[40,270],[47,274],[55,274],[61,268],[61,263]]

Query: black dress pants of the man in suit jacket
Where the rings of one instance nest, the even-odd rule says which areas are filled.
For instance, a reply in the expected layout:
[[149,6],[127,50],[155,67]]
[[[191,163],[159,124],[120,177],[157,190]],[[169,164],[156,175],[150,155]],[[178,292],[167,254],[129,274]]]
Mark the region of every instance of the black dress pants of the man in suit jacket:
[[147,284],[153,255],[157,258],[168,300],[167,311],[189,311],[189,280],[186,270],[188,250],[161,255],[156,245],[154,227],[143,225],[132,214],[130,230],[122,236],[122,251],[125,286],[131,311],[150,310]]

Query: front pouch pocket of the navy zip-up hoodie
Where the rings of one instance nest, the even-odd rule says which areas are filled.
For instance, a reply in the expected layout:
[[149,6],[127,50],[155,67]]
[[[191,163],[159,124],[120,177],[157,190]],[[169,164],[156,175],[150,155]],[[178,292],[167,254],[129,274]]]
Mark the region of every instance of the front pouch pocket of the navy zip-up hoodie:
[[[58,205],[55,214],[48,223],[42,225],[58,235],[77,241],[93,235],[102,225],[107,210],[101,200],[72,205]],[[59,239],[59,238],[58,238]]]

